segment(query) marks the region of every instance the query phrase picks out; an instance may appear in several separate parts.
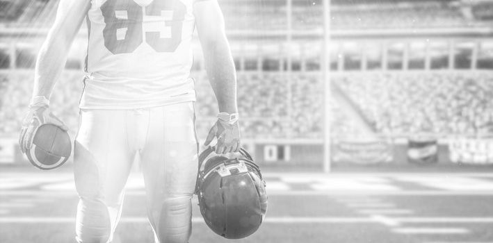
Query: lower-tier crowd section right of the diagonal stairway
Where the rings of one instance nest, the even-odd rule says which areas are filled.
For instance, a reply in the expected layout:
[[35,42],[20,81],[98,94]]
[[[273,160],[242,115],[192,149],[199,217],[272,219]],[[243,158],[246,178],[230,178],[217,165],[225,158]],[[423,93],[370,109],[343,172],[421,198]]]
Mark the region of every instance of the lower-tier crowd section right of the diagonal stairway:
[[491,72],[355,73],[334,84],[378,133],[478,135],[493,128],[492,79]]

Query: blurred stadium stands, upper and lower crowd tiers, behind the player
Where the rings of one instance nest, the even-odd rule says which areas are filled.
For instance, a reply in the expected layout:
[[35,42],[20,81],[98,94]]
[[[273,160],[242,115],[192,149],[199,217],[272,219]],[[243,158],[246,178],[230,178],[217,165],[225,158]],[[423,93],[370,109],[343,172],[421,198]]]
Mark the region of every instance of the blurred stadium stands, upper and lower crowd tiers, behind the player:
[[[54,5],[57,1],[30,1],[29,4],[20,4],[16,1],[0,0],[0,28],[19,27],[47,27],[54,17]],[[321,1],[300,1],[293,0],[292,26],[294,31],[306,31],[321,29]],[[481,26],[485,22],[478,19],[470,19],[464,16],[463,6],[459,1],[366,1],[364,4],[349,4],[345,1],[334,1],[332,6],[332,28],[363,30],[372,28],[378,33],[382,28],[447,28],[464,26]],[[243,5],[242,5],[243,4]],[[227,28],[236,31],[284,31],[288,28],[288,17],[286,16],[287,7],[284,1],[255,2],[250,1],[229,1],[223,0],[221,7],[227,19]],[[10,15],[9,11],[16,11],[16,15]],[[2,12],[3,11],[3,12]],[[37,21],[42,19],[42,21]],[[33,24],[33,22],[35,22]],[[357,31],[355,31],[357,33]],[[14,36],[15,37],[15,36]],[[356,40],[358,37],[355,37]],[[460,37],[457,39],[456,46],[462,48],[462,44],[467,44],[467,55],[463,58],[455,56],[455,62],[467,60],[464,67],[475,69],[483,68],[483,63],[491,63],[490,40],[481,39],[478,43],[468,41],[462,43]],[[19,122],[22,119],[22,112],[25,112],[32,90],[32,64],[35,50],[23,51],[24,47],[9,49],[10,42],[14,39],[6,39],[1,47],[3,56],[1,60],[16,60],[16,67],[10,67],[8,62],[3,62],[3,70],[0,73],[0,121],[5,126],[0,126],[0,133],[17,133]],[[84,40],[86,40],[84,38]],[[32,40],[34,41],[34,39]],[[377,133],[409,134],[409,133],[467,133],[476,134],[490,129],[493,114],[490,112],[493,107],[489,97],[493,92],[493,85],[488,82],[493,78],[493,74],[487,72],[455,72],[437,71],[434,68],[437,56],[435,43],[431,42],[428,52],[430,52],[429,73],[410,72],[387,72],[380,69],[378,72],[346,72],[350,69],[351,60],[357,60],[358,69],[362,56],[359,50],[360,42],[352,42],[352,46],[346,48],[345,42],[341,47],[346,52],[353,51],[354,56],[344,53],[346,65],[339,74],[334,76],[334,84],[338,92],[348,99],[355,109],[358,110],[364,119],[371,124]],[[449,43],[440,41],[439,54],[444,60],[452,56]],[[424,40],[417,40],[422,44],[423,50],[420,56],[420,63],[426,63],[426,44]],[[443,42],[443,43],[442,43]],[[1,41],[0,41],[1,43]],[[257,43],[257,42],[255,42]],[[304,42],[305,43],[305,42]],[[29,44],[31,43],[25,43]],[[266,54],[267,45],[261,40],[258,42],[262,48],[258,55],[282,56],[285,53]],[[264,44],[264,45],[263,45]],[[277,48],[277,44],[275,43]],[[307,44],[307,43],[305,43]],[[380,48],[384,42],[373,43]],[[401,44],[402,47],[407,43]],[[410,46],[412,46],[412,42]],[[358,47],[356,48],[355,45]],[[82,46],[82,44],[79,44]],[[37,47],[37,46],[36,46]],[[355,47],[355,48],[353,48]],[[389,56],[386,56],[390,64],[393,61],[391,55],[394,51],[391,45]],[[477,47],[477,49],[474,49]],[[459,49],[462,50],[462,49]],[[81,49],[83,50],[83,49]],[[320,74],[320,60],[318,58],[318,48],[314,45],[313,53],[308,53],[308,49],[291,53],[293,55],[293,74],[279,72],[282,67],[277,59],[274,60],[274,70],[266,72],[263,67],[264,62],[257,56],[249,56],[255,61],[257,68],[245,68],[239,72],[239,111],[242,115],[242,133],[244,137],[257,138],[321,138],[323,129],[323,84]],[[384,62],[378,52],[378,63]],[[444,50],[444,51],[443,51]],[[399,49],[402,57],[397,59],[401,63],[404,58],[404,48]],[[239,53],[241,55],[245,55]],[[265,53],[264,53],[265,52]],[[280,52],[285,52],[284,49]],[[412,58],[414,49],[409,49]],[[13,58],[14,54],[16,58]],[[474,56],[473,53],[477,55]],[[79,58],[77,53],[76,58]],[[253,53],[255,54],[255,53]],[[304,56],[302,56],[304,55]],[[313,55],[313,56],[310,56]],[[366,58],[372,56],[366,53]],[[235,53],[236,56],[236,53]],[[248,55],[247,55],[248,56]],[[311,69],[310,59],[316,61],[316,68]],[[335,56],[332,58],[335,59]],[[474,62],[476,58],[477,62]],[[247,58],[248,59],[248,58]],[[248,67],[250,59],[245,59],[245,66]],[[29,60],[29,61],[28,61]],[[200,60],[200,58],[197,58]],[[267,59],[262,59],[267,60]],[[440,59],[441,60],[441,59]],[[81,58],[75,59],[74,68],[79,69]],[[294,68],[295,62],[300,67]],[[267,62],[266,62],[267,63]],[[410,62],[411,63],[411,62]],[[446,62],[444,62],[446,63]],[[474,66],[473,65],[476,65]],[[335,62],[337,67],[337,62]],[[284,62],[285,65],[285,62]],[[341,67],[344,65],[340,65]],[[368,64],[368,67],[371,65]],[[448,68],[448,65],[440,67]],[[458,66],[458,65],[455,65]],[[454,67],[455,67],[454,66]],[[380,64],[378,64],[380,67]],[[389,69],[392,66],[389,65]],[[410,69],[412,69],[410,65]],[[12,69],[10,69],[12,68]],[[17,69],[15,69],[17,68]],[[490,68],[490,66],[488,66]],[[263,71],[260,69],[264,69]],[[371,69],[371,68],[369,68]],[[424,69],[424,67],[423,67]],[[309,72],[308,72],[309,71]],[[52,102],[54,112],[60,115],[70,128],[75,131],[77,128],[77,103],[79,101],[83,74],[75,70],[66,70],[60,83],[56,86]],[[197,80],[197,128],[200,135],[207,133],[211,124],[215,121],[217,107],[213,97],[213,92],[207,76],[203,70],[193,74]],[[61,95],[60,95],[61,94]],[[330,103],[332,106],[332,133],[334,135],[347,135],[357,133],[357,129],[348,121],[348,116],[344,114],[344,109],[339,106],[337,101]],[[467,109],[466,107],[474,107]]]

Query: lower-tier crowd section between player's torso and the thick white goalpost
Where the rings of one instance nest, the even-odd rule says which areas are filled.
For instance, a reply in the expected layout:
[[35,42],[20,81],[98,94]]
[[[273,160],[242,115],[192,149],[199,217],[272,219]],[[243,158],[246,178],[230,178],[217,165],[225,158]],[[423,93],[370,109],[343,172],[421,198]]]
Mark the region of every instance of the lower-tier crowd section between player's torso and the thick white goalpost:
[[[291,79],[290,79],[291,78]],[[195,77],[197,132],[207,134],[218,112],[205,74]],[[244,137],[319,137],[323,89],[316,76],[239,74],[238,105]],[[291,97],[291,98],[289,98]]]

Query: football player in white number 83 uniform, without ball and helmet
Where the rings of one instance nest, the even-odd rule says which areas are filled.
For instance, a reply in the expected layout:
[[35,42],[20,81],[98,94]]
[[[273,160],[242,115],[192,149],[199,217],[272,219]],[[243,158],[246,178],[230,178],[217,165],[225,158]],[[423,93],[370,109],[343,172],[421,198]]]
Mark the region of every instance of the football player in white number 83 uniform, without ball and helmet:
[[76,240],[113,240],[137,154],[156,242],[188,242],[198,152],[195,89],[189,77],[195,26],[220,110],[205,143],[216,138],[217,153],[240,149],[236,74],[218,2],[60,1],[36,63],[33,98],[19,137],[22,151],[31,148],[41,124],[66,129],[51,114],[49,98],[84,19],[86,76],[74,142],[80,199]]

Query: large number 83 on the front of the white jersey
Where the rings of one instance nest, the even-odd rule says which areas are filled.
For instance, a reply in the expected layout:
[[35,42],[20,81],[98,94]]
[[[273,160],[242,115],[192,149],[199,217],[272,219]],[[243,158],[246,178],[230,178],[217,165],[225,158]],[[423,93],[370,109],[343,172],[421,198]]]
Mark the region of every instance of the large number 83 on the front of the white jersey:
[[104,46],[113,54],[132,53],[143,42],[174,52],[181,42],[186,6],[179,0],[108,0],[100,9]]

